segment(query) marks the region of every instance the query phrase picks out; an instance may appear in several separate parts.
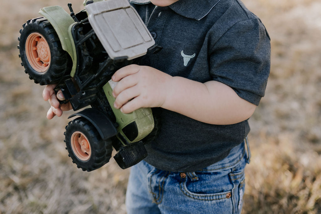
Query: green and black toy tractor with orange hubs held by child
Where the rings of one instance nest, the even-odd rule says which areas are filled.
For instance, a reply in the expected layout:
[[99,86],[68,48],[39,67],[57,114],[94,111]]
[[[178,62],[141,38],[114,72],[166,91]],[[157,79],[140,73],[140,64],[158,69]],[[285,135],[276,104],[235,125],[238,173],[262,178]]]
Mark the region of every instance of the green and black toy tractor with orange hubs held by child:
[[157,120],[151,108],[123,114],[114,108],[111,76],[161,48],[127,0],[84,1],[70,14],[60,6],[44,7],[43,17],[28,20],[18,38],[22,66],[40,85],[56,84],[79,116],[66,126],[65,143],[78,168],[105,165],[114,147],[125,169],[147,156],[144,144],[155,138]]

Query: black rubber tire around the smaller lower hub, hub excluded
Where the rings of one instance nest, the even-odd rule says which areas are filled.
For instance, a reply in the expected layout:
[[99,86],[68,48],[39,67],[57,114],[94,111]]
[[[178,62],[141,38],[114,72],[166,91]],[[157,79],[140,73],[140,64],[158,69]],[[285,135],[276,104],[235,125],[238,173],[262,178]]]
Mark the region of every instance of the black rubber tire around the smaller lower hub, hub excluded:
[[[83,133],[91,146],[91,156],[88,160],[83,161],[79,159],[72,149],[71,137],[74,132]],[[78,117],[68,123],[65,132],[66,149],[69,152],[69,157],[78,168],[83,171],[92,171],[104,166],[111,158],[112,142],[111,140],[103,141],[97,129],[85,118]]]

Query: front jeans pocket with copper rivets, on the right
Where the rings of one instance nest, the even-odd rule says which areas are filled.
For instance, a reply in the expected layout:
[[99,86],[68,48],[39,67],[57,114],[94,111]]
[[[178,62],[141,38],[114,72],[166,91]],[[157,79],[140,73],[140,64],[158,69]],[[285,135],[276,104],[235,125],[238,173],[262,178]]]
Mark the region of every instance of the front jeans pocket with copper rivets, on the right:
[[197,180],[181,178],[180,189],[189,198],[201,201],[217,201],[232,197],[231,169],[220,172],[196,172]]

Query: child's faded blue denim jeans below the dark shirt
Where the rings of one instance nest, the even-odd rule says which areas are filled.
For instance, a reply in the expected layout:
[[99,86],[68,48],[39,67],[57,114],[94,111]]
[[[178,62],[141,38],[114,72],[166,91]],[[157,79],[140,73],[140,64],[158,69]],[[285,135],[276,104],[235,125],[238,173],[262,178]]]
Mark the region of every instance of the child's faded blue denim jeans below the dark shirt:
[[127,213],[241,213],[249,159],[246,139],[223,160],[195,172],[163,171],[141,161],[131,167]]

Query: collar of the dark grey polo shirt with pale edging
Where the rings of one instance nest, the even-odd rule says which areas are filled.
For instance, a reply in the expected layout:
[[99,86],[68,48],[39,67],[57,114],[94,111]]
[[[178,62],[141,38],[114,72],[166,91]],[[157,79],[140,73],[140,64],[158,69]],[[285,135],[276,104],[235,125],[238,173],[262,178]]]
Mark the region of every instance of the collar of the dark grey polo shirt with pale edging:
[[[179,0],[169,5],[169,8],[187,18],[201,20],[220,1],[221,0]],[[149,0],[130,0],[130,2],[134,4],[150,3]]]

